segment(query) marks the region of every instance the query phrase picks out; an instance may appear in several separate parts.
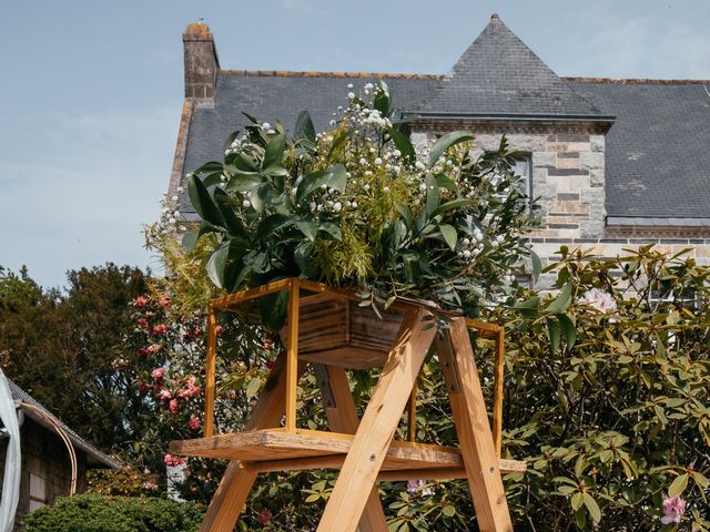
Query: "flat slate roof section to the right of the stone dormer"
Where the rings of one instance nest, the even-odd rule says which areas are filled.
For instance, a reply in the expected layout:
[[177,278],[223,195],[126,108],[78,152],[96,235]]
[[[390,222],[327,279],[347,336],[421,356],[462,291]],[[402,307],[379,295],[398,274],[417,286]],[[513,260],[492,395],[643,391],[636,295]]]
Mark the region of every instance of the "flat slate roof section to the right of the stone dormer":
[[607,133],[608,216],[710,217],[710,94],[701,83],[569,82],[617,116]]

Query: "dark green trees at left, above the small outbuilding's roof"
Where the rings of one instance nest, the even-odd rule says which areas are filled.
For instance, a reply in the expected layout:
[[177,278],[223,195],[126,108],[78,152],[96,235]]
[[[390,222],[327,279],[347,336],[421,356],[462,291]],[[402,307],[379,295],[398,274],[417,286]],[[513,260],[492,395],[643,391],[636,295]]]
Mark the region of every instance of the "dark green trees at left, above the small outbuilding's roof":
[[[128,305],[144,290],[143,273],[129,266],[69,272],[65,291],[42,289],[26,269],[0,268],[3,370],[104,450],[142,430],[130,372],[139,354],[123,339],[131,327]],[[129,371],[116,372],[123,367]]]

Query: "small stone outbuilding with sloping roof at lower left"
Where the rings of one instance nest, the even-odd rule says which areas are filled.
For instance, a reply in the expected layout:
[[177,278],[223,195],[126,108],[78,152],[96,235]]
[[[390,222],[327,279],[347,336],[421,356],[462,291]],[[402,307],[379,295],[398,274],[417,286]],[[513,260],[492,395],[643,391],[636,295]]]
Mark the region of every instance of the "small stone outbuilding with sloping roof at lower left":
[[[14,530],[19,531],[26,514],[70,494],[71,460],[69,450],[58,436],[54,424],[64,431],[77,454],[77,493],[87,491],[89,469],[118,469],[120,463],[87,443],[14,382],[9,379],[8,382],[12,398],[21,412],[20,502],[14,519]],[[4,470],[7,448],[8,440],[0,439],[0,471]],[[1,488],[0,485],[0,490]]]

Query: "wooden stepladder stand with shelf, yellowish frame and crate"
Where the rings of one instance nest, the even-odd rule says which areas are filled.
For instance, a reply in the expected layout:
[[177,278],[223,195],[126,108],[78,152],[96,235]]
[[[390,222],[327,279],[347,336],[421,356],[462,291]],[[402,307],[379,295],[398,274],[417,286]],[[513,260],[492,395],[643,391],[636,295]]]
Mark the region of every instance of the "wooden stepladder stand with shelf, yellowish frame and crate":
[[[246,430],[213,436],[216,313],[288,290],[288,319],[278,355]],[[307,295],[310,294],[310,295]],[[302,296],[303,295],[303,296]],[[230,459],[201,531],[233,530],[260,472],[339,469],[318,532],[386,532],[378,481],[466,478],[481,531],[513,530],[501,472],[525,471],[524,462],[499,459],[503,401],[503,329],[450,315],[448,328],[434,326],[443,311],[396,300],[378,318],[357,305],[355,294],[325,285],[284,279],[212,301],[207,331],[204,438],[173,441],[174,454]],[[494,430],[478,379],[468,327],[496,340]],[[415,419],[416,379],[434,346],[444,369],[460,448],[393,440],[409,405]],[[332,431],[296,427],[296,386],[313,366]],[[382,367],[363,417],[345,369]],[[282,426],[282,418],[284,423]]]

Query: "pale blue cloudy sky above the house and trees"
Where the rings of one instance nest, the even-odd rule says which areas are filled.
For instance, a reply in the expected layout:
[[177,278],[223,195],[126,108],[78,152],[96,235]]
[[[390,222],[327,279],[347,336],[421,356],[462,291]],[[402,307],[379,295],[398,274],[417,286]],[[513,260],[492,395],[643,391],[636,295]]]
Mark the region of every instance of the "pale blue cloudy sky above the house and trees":
[[2,0],[0,265],[155,267],[189,22],[223,69],[446,73],[494,11],[559,75],[710,79],[709,0]]

